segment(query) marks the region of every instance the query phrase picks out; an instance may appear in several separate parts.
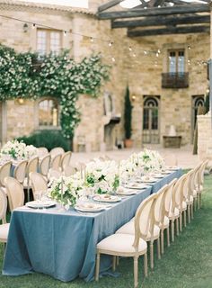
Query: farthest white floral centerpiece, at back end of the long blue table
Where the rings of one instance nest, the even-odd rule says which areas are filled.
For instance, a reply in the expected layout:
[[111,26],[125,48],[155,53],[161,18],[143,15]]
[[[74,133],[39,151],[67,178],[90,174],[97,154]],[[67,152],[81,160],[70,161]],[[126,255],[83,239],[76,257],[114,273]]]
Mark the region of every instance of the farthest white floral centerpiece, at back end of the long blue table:
[[145,149],[137,154],[138,166],[143,166],[145,171],[161,170],[164,166],[163,157],[155,150]]

